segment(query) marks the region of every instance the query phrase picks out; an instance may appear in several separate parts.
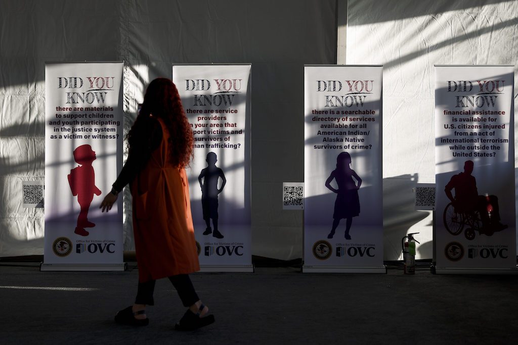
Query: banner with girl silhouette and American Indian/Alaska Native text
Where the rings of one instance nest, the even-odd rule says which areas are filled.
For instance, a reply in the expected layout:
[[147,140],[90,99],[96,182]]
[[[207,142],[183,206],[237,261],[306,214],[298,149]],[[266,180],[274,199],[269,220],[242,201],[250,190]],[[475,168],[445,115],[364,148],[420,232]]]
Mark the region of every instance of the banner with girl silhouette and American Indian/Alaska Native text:
[[305,66],[303,272],[386,273],[382,66]]

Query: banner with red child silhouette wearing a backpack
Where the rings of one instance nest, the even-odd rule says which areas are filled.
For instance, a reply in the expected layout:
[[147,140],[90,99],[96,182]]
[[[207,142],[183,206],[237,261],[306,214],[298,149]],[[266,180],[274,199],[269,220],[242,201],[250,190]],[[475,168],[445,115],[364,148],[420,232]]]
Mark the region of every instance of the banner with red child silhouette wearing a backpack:
[[122,271],[122,209],[100,212],[122,164],[123,63],[45,65],[42,271]]

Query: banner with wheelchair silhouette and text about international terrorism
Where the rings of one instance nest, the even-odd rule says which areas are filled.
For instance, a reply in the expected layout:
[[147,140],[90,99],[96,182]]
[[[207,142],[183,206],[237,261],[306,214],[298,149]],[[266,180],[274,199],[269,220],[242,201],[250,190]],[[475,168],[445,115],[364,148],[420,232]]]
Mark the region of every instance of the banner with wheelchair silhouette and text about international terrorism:
[[436,66],[438,273],[516,272],[513,66]]

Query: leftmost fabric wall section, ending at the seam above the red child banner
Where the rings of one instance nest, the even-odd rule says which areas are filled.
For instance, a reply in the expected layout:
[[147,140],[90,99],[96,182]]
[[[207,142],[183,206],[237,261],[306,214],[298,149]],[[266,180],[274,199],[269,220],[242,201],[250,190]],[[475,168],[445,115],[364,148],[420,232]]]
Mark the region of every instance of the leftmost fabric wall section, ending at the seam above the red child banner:
[[[0,2],[0,256],[43,253],[44,209],[22,183],[45,179],[45,62],[122,60],[117,2]],[[111,13],[111,14],[109,14]]]

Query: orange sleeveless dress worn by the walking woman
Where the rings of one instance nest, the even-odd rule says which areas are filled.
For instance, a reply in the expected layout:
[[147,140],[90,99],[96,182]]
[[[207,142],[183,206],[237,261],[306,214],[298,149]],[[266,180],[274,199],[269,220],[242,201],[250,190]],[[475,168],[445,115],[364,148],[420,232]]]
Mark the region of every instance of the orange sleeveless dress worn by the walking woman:
[[199,271],[185,169],[168,160],[169,132],[134,179],[133,232],[140,282]]

